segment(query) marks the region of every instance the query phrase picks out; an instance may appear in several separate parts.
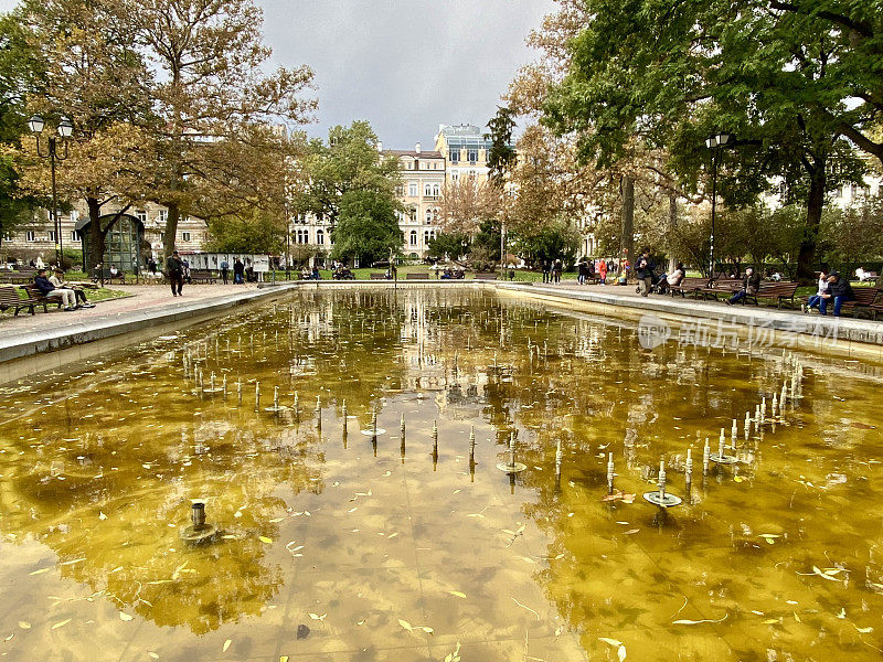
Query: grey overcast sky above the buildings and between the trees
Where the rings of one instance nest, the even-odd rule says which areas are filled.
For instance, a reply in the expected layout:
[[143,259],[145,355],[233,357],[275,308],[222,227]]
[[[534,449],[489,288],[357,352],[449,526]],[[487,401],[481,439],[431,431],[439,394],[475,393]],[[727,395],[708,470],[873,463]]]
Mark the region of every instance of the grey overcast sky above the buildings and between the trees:
[[[439,124],[485,127],[552,0],[256,0],[275,64],[316,72],[318,122],[368,119],[385,148],[432,149]],[[0,0],[0,11],[17,4]]]

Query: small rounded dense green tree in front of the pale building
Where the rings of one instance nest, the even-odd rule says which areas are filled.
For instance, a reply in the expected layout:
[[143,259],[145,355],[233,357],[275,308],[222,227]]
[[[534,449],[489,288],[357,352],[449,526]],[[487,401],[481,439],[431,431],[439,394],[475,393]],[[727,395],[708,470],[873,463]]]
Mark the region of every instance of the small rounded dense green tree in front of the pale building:
[[370,265],[397,253],[404,235],[396,217],[397,203],[379,191],[348,191],[340,202],[338,224],[333,229],[331,257]]

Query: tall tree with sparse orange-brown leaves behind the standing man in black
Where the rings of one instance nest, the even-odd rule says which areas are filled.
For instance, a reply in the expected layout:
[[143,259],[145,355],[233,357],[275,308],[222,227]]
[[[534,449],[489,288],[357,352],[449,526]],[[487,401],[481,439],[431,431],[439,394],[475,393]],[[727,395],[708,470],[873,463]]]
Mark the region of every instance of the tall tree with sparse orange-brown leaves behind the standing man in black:
[[251,0],[121,1],[158,74],[150,87],[158,164],[151,197],[169,211],[168,256],[179,220],[204,209],[206,193],[243,182],[254,189],[285,166],[289,141],[272,125],[306,120],[316,104],[300,95],[312,72],[264,73],[270,50],[260,42],[263,14]]

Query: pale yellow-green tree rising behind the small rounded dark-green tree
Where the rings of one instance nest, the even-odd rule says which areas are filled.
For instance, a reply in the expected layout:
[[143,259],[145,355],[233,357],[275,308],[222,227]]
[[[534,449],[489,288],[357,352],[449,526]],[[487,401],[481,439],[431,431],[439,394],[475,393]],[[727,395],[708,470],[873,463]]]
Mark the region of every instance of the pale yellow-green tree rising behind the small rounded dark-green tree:
[[333,127],[327,145],[320,140],[310,142],[300,162],[307,183],[304,192],[295,196],[296,212],[327,218],[333,227],[347,193],[373,192],[395,201],[401,166],[395,157],[381,158],[376,143],[371,125],[361,120],[349,127]]

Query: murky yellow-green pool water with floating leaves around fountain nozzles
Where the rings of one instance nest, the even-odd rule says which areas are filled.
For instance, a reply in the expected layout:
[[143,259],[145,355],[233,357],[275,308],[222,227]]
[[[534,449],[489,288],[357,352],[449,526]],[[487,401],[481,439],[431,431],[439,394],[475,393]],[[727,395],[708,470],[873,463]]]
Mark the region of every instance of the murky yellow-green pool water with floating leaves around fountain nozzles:
[[[877,660],[880,376],[801,361],[785,425],[745,442],[790,378],[779,352],[648,351],[615,320],[461,290],[330,292],[8,386],[0,655]],[[265,410],[276,386],[299,413]],[[733,418],[745,461],[703,478]],[[609,452],[634,503],[603,501]],[[641,498],[660,459],[685,499],[668,516]],[[194,499],[213,545],[181,540]]]

